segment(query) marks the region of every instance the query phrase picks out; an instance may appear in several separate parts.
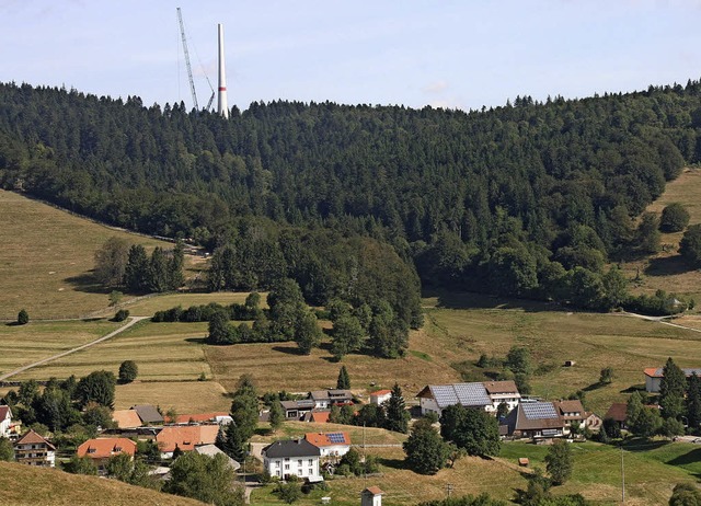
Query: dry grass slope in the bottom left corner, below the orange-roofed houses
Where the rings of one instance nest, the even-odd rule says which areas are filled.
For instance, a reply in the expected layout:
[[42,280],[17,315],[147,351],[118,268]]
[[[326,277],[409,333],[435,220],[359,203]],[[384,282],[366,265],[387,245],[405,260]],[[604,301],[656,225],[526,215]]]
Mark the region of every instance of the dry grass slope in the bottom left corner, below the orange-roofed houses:
[[0,462],[0,504],[74,506],[186,506],[198,501],[162,494],[116,480],[69,474],[57,469],[38,469]]

